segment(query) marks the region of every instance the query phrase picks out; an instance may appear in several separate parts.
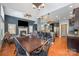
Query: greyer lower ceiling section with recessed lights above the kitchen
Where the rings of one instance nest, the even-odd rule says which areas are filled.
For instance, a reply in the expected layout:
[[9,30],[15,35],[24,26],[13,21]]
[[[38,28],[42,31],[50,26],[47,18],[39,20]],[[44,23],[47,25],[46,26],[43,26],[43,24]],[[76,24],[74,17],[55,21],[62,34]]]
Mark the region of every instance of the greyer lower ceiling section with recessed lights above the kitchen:
[[56,21],[56,22],[59,20],[67,20],[71,18],[73,9],[77,7],[79,7],[79,3],[69,4],[60,9],[50,12],[50,15],[46,14],[44,16],[45,17],[47,16],[50,20]]

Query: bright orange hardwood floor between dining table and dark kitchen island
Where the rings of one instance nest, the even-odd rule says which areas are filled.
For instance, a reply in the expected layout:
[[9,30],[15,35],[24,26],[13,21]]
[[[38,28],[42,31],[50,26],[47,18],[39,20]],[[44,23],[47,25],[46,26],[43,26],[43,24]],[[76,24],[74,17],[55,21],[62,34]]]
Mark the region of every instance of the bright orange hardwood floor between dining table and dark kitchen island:
[[54,44],[49,48],[48,56],[79,56],[79,53],[73,52],[67,48],[66,37],[57,37]]

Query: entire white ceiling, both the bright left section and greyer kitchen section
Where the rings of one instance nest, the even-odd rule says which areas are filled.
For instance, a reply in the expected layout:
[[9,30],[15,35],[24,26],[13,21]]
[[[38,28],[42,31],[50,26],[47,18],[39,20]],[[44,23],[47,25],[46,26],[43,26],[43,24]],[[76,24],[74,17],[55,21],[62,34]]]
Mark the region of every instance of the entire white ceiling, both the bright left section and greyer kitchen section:
[[[25,18],[24,14],[29,13],[32,15],[30,19],[35,20],[37,17],[50,13],[49,17],[54,21],[69,18],[72,9],[79,6],[79,4],[72,3],[46,3],[45,8],[38,10],[32,8],[32,3],[3,3],[2,5],[7,15]],[[71,5],[73,8],[69,7]]]

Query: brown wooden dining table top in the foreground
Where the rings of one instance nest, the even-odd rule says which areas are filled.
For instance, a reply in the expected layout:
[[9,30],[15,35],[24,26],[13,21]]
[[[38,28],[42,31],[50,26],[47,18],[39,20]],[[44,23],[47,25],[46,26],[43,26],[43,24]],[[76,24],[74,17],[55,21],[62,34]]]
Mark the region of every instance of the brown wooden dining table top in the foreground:
[[29,53],[40,48],[43,44],[43,40],[36,37],[18,37],[17,38],[23,48],[25,48]]

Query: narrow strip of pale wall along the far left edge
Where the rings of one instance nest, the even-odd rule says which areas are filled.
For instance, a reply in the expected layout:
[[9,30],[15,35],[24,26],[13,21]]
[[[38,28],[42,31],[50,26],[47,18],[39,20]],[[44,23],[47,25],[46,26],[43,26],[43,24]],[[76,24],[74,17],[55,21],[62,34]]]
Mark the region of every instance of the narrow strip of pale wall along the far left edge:
[[0,5],[0,48],[4,37],[4,20],[4,9],[3,6]]

